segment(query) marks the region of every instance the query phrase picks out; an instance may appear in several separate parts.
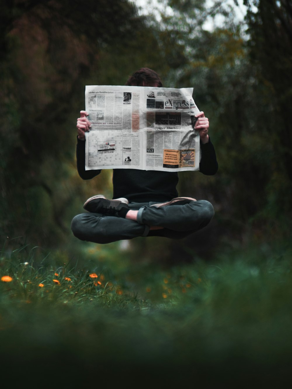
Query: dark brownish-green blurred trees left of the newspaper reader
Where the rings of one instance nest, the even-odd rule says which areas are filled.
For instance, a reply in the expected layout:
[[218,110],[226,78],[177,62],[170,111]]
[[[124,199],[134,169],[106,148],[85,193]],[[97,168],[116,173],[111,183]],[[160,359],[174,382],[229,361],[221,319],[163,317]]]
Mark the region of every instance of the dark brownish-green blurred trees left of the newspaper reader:
[[75,169],[84,86],[124,84],[156,39],[125,0],[4,1],[0,29],[0,235],[58,245],[84,193],[110,187],[109,172],[84,183]]

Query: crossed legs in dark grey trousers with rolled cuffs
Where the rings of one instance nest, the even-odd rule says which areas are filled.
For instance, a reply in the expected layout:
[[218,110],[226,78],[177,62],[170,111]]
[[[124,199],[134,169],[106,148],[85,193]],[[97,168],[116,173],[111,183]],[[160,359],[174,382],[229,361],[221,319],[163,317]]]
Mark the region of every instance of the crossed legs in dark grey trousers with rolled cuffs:
[[87,212],[73,218],[71,229],[80,240],[106,244],[135,237],[184,238],[210,223],[213,206],[206,200],[164,205],[130,203],[125,217]]

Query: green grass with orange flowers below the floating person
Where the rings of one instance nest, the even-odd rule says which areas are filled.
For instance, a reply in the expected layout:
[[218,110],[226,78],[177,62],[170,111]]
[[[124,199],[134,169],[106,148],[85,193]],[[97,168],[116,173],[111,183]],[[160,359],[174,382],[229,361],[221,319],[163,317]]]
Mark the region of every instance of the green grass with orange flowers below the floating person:
[[291,245],[171,267],[84,248],[73,265],[66,252],[3,247],[2,369],[14,385],[288,385]]

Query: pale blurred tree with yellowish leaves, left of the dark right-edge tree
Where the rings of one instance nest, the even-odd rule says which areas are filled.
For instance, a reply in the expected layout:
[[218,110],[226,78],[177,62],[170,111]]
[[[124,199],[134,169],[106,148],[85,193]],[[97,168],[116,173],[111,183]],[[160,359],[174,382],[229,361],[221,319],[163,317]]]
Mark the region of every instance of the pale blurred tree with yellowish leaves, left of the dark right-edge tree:
[[[194,87],[195,102],[210,118],[210,137],[219,159],[215,177],[194,173],[190,179],[189,173],[180,173],[180,195],[210,200],[220,223],[213,221],[207,232],[187,240],[203,252],[206,244],[211,249],[222,238],[241,239],[247,221],[262,202],[254,193],[263,191],[258,177],[266,179],[266,163],[254,169],[251,155],[259,147],[254,143],[256,132],[249,130],[255,115],[254,72],[241,23],[229,2],[214,2],[212,7],[203,0],[164,3],[172,12],[161,16],[160,29],[177,34],[183,54],[180,66],[170,70],[167,84]],[[216,26],[214,19],[219,16],[222,22]]]

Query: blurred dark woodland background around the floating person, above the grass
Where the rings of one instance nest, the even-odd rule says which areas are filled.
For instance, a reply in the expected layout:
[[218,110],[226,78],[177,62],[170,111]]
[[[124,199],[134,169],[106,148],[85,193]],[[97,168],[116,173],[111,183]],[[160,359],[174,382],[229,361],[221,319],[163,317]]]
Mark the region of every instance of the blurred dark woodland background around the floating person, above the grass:
[[30,245],[73,258],[92,247],[73,237],[70,223],[88,197],[112,198],[112,171],[87,182],[77,174],[85,85],[124,85],[141,67],[156,70],[165,87],[193,87],[210,120],[219,171],[182,172],[178,191],[209,200],[215,216],[184,240],[136,238],[95,255],[110,246],[133,261],[178,263],[289,242],[290,0],[3,0],[0,30],[6,249]]

